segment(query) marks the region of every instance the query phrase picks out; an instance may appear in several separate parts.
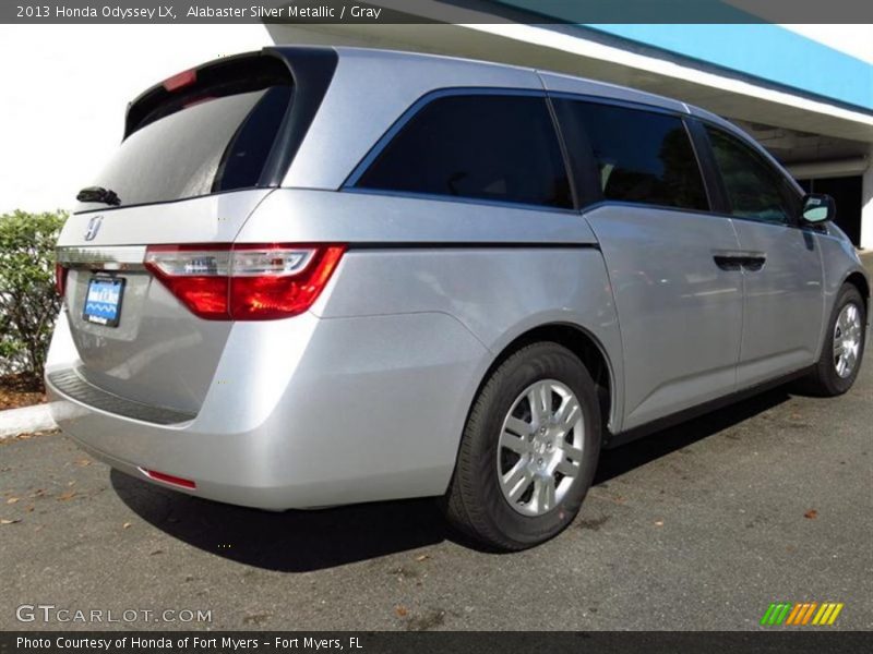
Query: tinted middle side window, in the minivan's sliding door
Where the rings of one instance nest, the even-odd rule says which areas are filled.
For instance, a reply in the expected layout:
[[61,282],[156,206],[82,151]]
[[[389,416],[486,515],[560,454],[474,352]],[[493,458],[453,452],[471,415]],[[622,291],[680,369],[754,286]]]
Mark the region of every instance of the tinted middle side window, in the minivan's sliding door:
[[590,152],[606,199],[709,208],[681,119],[579,100],[560,99],[555,107],[574,168],[583,170]]

